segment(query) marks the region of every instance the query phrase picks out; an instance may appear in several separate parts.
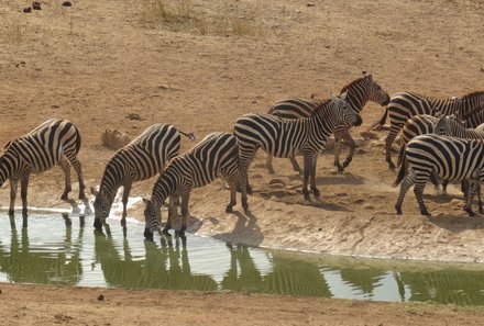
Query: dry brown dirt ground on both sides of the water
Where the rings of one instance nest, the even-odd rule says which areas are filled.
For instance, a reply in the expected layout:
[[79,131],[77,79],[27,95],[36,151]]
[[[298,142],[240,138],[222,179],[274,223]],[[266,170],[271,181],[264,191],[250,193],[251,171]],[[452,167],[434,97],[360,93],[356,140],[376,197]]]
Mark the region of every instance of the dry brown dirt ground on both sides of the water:
[[[327,97],[362,70],[373,74],[389,94],[461,95],[484,85],[480,1],[62,2],[41,1],[42,10],[23,13],[29,1],[0,0],[0,143],[50,117],[69,119],[82,133],[80,159],[88,186],[99,183],[113,154],[100,143],[106,128],[134,137],[155,122],[166,122],[199,138],[231,132],[246,112],[265,112],[287,97]],[[255,190],[251,214],[227,215],[229,193],[217,181],[194,191],[190,231],[272,248],[484,260],[483,216],[462,212],[457,188],[441,194],[428,187],[430,220],[418,214],[411,192],[405,215],[395,216],[395,173],[384,160],[386,132],[376,133],[378,139],[360,135],[382,114],[375,103],[365,106],[363,125],[353,130],[361,146],[345,173],[334,172],[331,151],[320,156],[320,201],[302,201],[301,181],[286,160],[276,159],[277,175],[267,175],[265,155],[258,153],[250,170]],[[184,139],[183,149],[190,146]],[[150,195],[153,182],[136,183],[132,195]],[[68,206],[59,200],[62,187],[58,168],[33,177],[30,204]],[[8,199],[4,186],[3,207]],[[130,215],[141,218],[142,207]],[[2,325],[481,325],[484,318],[480,308],[436,305],[11,284],[1,289]],[[97,300],[99,293],[105,301]]]

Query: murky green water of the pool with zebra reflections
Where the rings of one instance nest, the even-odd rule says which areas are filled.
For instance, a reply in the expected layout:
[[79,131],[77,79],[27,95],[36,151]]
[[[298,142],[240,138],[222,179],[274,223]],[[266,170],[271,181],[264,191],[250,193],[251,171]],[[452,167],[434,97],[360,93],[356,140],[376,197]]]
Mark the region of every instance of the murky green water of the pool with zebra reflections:
[[[86,226],[84,226],[84,224]],[[92,217],[0,215],[0,282],[80,286],[243,291],[377,301],[484,304],[484,266],[336,258],[230,246],[188,235],[144,240],[144,226],[119,222],[112,236]]]

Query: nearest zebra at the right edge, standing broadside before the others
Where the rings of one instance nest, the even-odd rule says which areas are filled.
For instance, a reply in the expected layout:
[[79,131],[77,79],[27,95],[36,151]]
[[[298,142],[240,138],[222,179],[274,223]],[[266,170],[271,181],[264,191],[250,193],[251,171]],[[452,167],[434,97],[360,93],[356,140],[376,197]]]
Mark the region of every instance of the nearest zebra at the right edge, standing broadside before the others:
[[[402,214],[402,204],[408,189],[415,184],[414,192],[422,215],[430,216],[425,202],[424,189],[431,175],[443,180],[470,182],[464,210],[473,216],[472,199],[480,180],[484,180],[484,142],[452,138],[435,134],[420,135],[405,147],[404,158],[394,187],[402,180],[400,192],[395,210]],[[408,166],[406,175],[405,166]]]

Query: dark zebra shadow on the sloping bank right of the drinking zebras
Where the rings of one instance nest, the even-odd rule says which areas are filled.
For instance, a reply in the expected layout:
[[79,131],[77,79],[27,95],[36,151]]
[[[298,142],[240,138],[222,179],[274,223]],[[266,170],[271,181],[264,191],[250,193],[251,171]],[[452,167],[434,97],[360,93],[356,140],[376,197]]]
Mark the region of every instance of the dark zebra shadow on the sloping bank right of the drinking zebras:
[[238,217],[233,231],[231,233],[220,233],[213,237],[216,239],[233,244],[244,243],[251,246],[261,245],[262,240],[264,239],[264,235],[257,225],[257,217],[251,212],[234,212],[233,215]]

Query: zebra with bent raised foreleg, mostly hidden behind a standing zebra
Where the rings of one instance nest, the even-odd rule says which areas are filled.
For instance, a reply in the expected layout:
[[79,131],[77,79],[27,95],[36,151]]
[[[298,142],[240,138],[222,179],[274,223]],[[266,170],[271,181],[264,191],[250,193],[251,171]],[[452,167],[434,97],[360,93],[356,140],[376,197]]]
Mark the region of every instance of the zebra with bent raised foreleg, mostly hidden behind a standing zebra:
[[[382,87],[373,79],[371,74],[363,71],[363,77],[358,78],[344,86],[341,89],[340,94],[348,92],[346,102],[355,112],[361,112],[367,101],[374,101],[380,105],[386,106],[389,102],[388,93],[382,89]],[[285,119],[308,117],[319,103],[320,101],[315,99],[285,99],[276,102],[270,109],[268,113]],[[337,125],[334,128],[334,140],[337,144],[334,150],[334,166],[338,167],[338,171],[340,172],[344,171],[344,168],[351,164],[353,160],[354,150],[356,149],[356,144],[350,135],[350,128],[351,126],[345,124]],[[348,154],[343,165],[340,164],[340,140],[350,147],[350,153]],[[294,157],[290,157],[290,162],[293,164],[295,171],[299,173],[302,171]],[[274,173],[271,155],[267,156],[266,167],[270,173]]]

